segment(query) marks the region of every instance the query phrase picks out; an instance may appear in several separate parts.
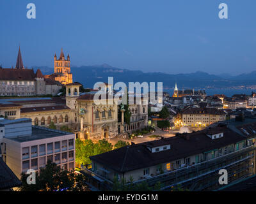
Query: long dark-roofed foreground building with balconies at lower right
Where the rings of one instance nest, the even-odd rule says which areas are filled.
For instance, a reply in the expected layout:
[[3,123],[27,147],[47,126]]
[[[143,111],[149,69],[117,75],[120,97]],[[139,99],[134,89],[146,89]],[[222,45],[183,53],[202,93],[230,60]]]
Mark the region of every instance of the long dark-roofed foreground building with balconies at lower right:
[[[114,178],[147,182],[161,190],[180,186],[190,191],[221,187],[219,170],[228,172],[228,184],[255,174],[256,119],[232,119],[195,133],[132,144],[90,157],[84,168],[88,181],[111,189]],[[129,185],[129,184],[128,184]]]

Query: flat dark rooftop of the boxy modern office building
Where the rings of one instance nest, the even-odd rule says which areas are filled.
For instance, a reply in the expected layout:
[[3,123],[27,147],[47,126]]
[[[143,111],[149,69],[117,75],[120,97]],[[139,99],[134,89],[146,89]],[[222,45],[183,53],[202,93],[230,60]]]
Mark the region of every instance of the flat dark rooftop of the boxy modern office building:
[[15,138],[7,138],[7,139],[22,143],[22,142],[29,142],[33,140],[43,140],[47,138],[54,138],[56,136],[64,136],[64,135],[72,135],[72,134],[74,133],[68,133],[68,132],[59,131],[56,129],[32,126],[32,135],[20,136]]

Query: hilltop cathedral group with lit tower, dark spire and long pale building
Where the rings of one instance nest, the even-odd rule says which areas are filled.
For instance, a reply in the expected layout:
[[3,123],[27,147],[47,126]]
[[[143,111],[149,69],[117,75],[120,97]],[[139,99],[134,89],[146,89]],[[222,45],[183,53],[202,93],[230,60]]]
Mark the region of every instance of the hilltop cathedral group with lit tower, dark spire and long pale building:
[[61,49],[60,58],[54,55],[54,73],[42,75],[40,69],[24,67],[19,48],[15,68],[0,68],[0,96],[55,96],[61,87],[72,83],[70,57],[65,59]]

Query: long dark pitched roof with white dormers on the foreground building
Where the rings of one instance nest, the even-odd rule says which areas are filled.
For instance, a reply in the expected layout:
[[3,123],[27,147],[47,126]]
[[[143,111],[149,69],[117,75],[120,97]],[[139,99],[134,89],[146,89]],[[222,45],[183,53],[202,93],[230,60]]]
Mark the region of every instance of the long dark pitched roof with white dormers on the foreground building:
[[[189,140],[185,140],[182,136],[163,138],[111,150],[97,156],[92,156],[90,159],[100,164],[108,165],[109,168],[115,171],[124,173],[218,149],[245,139],[244,136],[229,128],[217,127],[216,131],[217,129],[223,132],[223,137],[215,140],[206,135],[205,129],[189,133]],[[170,149],[152,153],[147,148],[162,145],[170,145]]]

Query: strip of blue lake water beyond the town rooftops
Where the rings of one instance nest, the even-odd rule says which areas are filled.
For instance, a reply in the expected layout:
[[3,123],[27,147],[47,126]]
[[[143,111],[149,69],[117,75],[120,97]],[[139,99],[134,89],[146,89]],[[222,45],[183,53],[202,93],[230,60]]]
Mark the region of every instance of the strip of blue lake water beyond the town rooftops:
[[[250,95],[252,92],[256,92],[256,89],[204,89],[207,96],[212,96],[214,94],[224,94],[227,97],[231,97],[234,94],[246,94]],[[174,89],[163,89],[163,91],[166,91],[170,93],[170,95],[173,94]]]

